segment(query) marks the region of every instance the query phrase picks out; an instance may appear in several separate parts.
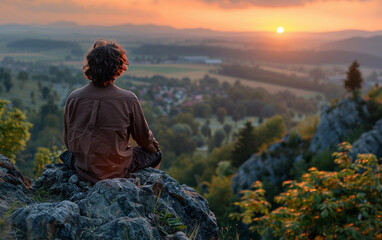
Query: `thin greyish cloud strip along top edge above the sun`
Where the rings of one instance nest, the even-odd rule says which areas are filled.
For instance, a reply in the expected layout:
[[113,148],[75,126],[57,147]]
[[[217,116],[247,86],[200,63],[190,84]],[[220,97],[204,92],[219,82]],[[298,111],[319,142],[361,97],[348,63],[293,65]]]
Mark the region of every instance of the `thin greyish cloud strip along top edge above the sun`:
[[[268,7],[268,8],[284,8],[303,6],[312,2],[338,2],[339,0],[202,0],[207,3],[218,3],[222,8],[245,8],[248,6]],[[347,0],[352,1],[352,0]],[[354,0],[368,1],[368,0]]]

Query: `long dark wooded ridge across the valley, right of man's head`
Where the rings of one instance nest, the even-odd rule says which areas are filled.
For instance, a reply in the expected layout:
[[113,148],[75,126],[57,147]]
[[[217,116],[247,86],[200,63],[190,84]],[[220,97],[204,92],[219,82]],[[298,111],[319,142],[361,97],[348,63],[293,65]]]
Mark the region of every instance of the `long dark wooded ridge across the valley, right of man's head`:
[[328,51],[265,51],[258,49],[234,49],[214,46],[181,46],[145,44],[133,49],[135,54],[153,56],[157,58],[181,56],[209,56],[251,61],[267,61],[295,64],[348,64],[357,59],[361,65],[382,68],[382,57],[358,52],[339,50]]

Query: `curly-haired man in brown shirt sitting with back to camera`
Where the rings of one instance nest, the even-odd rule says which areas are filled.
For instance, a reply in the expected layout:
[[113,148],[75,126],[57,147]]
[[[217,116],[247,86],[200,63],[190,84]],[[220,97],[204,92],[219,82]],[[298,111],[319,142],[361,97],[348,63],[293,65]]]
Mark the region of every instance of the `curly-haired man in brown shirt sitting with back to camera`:
[[[97,40],[83,67],[90,83],[73,91],[66,101],[64,141],[69,151],[61,159],[84,180],[96,183],[160,166],[159,144],[138,98],[114,85],[128,65],[120,45]],[[137,147],[131,147],[130,136]]]

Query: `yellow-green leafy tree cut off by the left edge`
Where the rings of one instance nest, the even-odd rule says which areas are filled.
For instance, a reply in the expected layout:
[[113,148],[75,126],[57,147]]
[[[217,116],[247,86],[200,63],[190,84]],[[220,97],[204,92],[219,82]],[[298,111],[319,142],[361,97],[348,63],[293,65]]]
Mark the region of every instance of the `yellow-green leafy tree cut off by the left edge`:
[[16,154],[25,148],[32,124],[17,108],[8,109],[9,102],[0,100],[0,153],[15,162]]

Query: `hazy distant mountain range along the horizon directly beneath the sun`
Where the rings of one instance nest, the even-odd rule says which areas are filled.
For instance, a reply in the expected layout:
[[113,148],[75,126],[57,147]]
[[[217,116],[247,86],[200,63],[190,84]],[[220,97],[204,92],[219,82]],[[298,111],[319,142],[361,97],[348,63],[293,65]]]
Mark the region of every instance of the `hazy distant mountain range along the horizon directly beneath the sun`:
[[0,25],[2,38],[19,40],[25,38],[48,38],[52,40],[93,40],[112,38],[117,41],[137,43],[186,43],[220,44],[234,46],[245,44],[245,48],[268,50],[317,49],[331,41],[351,37],[372,37],[382,35],[382,31],[368,32],[345,30],[337,32],[291,32],[282,35],[275,32],[222,32],[205,28],[177,29],[154,24],[121,24],[114,26],[79,25],[73,22],[49,24],[8,24]]

